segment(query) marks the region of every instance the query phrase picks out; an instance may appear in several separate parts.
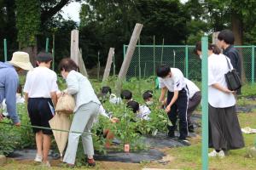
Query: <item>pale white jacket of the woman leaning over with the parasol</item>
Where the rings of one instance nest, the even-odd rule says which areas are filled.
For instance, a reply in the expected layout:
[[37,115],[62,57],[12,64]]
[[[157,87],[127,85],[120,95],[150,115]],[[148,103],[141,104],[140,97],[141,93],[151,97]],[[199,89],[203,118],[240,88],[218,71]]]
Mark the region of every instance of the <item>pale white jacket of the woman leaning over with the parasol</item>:
[[100,100],[97,98],[94,89],[92,88],[87,77],[84,77],[81,73],[77,71],[70,71],[67,75],[67,89],[65,92],[73,95],[76,106],[74,109],[78,111],[79,107],[90,102],[95,102],[101,105]]

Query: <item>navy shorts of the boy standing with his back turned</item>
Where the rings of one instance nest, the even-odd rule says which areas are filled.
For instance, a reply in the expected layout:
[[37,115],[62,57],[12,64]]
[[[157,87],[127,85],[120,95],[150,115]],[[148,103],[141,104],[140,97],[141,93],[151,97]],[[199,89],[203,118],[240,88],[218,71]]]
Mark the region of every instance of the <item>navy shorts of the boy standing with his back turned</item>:
[[[53,103],[48,98],[29,98],[27,111],[30,117],[32,126],[49,127],[49,120],[54,116],[52,111]],[[51,130],[32,127],[33,133],[38,133],[42,130],[44,134],[52,134]]]

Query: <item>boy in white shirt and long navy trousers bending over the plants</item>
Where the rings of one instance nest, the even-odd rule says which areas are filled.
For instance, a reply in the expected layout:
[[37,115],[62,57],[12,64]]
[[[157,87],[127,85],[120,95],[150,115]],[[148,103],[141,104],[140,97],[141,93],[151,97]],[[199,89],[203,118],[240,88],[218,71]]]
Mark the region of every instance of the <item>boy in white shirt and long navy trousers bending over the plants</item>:
[[[160,80],[161,94],[159,101],[164,103],[165,94],[167,95],[166,113],[172,122],[169,128],[168,136],[174,138],[174,131],[177,127],[177,116],[179,116],[179,140],[183,143],[189,144],[186,140],[188,136],[188,122],[187,122],[187,109],[189,103],[189,91],[183,77],[182,71],[177,68],[170,68],[167,65],[161,65],[156,74]],[[179,114],[177,114],[177,110]]]

